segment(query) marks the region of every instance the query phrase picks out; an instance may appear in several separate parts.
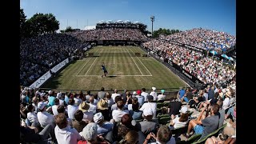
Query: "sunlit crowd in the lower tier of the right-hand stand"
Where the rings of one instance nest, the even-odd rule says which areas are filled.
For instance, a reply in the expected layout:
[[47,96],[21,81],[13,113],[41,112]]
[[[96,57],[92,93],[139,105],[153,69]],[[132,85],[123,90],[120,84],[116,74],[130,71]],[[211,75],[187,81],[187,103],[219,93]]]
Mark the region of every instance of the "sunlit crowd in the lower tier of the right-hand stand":
[[219,85],[231,82],[236,73],[222,61],[206,57],[204,54],[172,44],[165,40],[151,40],[142,44],[149,48],[151,53],[158,54],[162,59],[167,58],[182,69],[193,74],[201,82],[216,82]]

